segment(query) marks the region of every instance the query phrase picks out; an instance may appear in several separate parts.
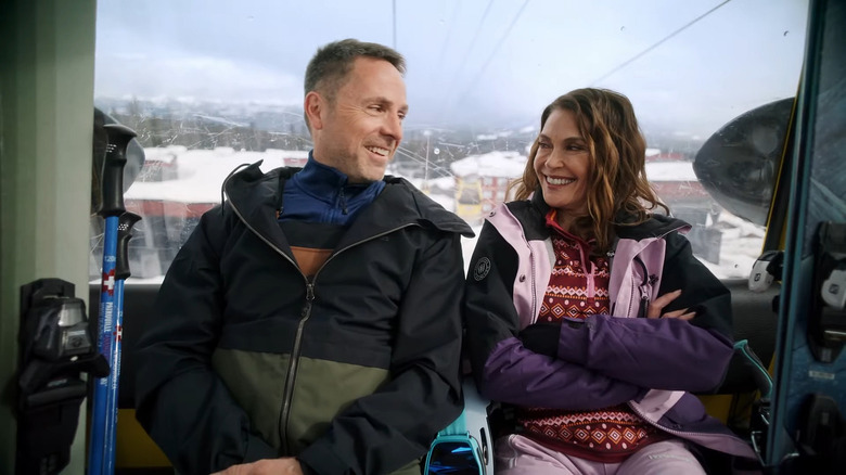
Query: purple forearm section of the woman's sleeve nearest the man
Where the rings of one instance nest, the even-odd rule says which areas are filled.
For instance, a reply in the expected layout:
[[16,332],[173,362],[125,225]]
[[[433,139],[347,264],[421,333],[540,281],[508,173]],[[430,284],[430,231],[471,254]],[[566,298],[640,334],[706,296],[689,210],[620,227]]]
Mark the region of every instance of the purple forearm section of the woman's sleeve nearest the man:
[[512,337],[497,344],[488,357],[480,393],[520,406],[590,410],[620,405],[645,389],[529,351]]

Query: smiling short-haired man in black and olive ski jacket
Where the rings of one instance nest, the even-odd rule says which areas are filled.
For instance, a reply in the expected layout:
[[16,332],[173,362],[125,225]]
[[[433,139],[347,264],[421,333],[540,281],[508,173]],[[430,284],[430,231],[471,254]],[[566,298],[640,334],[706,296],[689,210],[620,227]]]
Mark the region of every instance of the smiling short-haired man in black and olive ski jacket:
[[138,420],[177,471],[419,474],[461,411],[470,228],[402,179],[405,61],[343,40],[306,72],[315,147],[225,183],[138,349]]

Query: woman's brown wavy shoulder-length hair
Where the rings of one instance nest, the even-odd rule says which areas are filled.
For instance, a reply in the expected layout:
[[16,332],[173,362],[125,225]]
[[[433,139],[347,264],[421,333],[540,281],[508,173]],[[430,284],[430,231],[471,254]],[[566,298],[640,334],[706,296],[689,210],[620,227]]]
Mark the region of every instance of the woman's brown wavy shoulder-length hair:
[[[614,240],[614,224],[639,224],[656,207],[669,214],[646,181],[646,140],[628,98],[607,89],[576,89],[543,110],[541,130],[555,110],[575,114],[590,152],[588,216],[578,218],[571,232],[585,240],[595,239],[593,252],[604,253]],[[536,139],[523,177],[512,184],[516,200],[528,200],[531,193],[540,191],[534,167],[537,152]],[[624,216],[625,222],[616,221]]]

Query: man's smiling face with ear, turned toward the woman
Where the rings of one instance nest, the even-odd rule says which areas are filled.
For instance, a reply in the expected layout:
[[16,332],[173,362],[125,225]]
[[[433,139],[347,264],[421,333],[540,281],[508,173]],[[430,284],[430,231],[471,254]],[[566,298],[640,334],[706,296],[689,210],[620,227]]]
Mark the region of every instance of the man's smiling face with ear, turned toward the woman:
[[402,140],[408,112],[399,70],[384,60],[358,57],[334,101],[325,95],[311,100],[322,104],[318,115],[309,115],[315,159],[337,168],[354,183],[381,180]]

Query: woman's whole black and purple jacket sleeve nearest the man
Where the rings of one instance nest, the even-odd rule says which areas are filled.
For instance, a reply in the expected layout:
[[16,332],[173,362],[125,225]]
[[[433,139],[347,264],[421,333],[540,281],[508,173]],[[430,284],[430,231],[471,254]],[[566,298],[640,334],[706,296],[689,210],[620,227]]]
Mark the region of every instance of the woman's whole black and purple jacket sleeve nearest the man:
[[644,391],[525,348],[512,297],[516,268],[516,253],[486,222],[467,272],[464,306],[473,374],[484,397],[520,406],[599,409]]

